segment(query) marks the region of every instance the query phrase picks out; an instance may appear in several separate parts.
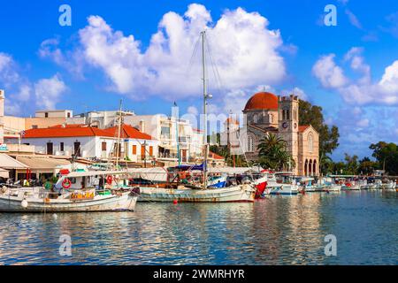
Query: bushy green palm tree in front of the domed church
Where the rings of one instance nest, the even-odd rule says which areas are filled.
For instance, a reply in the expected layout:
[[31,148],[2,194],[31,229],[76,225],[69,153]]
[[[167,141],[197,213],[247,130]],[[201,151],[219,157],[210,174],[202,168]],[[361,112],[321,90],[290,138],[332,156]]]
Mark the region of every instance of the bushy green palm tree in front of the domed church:
[[287,142],[275,134],[266,134],[258,145],[259,162],[264,168],[281,170],[294,168],[295,160],[287,152]]

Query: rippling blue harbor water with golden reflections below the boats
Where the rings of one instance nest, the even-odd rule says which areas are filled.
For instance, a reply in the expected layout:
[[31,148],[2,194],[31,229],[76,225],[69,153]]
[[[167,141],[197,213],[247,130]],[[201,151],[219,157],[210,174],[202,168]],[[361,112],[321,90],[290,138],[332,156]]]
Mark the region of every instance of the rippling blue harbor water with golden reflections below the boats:
[[[397,217],[398,193],[381,190],[2,213],[0,264],[398,264]],[[60,255],[65,235],[70,256]],[[326,235],[335,256],[325,255]]]

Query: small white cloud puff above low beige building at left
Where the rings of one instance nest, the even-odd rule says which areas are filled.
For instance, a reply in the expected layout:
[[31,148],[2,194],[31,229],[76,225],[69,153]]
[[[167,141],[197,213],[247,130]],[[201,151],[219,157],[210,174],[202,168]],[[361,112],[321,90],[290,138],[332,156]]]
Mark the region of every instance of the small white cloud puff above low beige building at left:
[[34,84],[36,105],[46,110],[55,109],[60,96],[65,92],[66,86],[63,80],[56,74],[50,79],[42,79]]

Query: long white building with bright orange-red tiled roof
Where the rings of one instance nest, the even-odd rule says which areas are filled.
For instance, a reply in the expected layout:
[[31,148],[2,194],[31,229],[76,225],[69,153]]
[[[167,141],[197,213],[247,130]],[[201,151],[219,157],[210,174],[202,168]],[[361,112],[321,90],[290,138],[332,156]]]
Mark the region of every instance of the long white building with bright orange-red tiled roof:
[[[30,129],[21,138],[22,144],[34,145],[37,153],[63,156],[114,159],[117,156],[119,128],[98,129],[84,125],[59,125]],[[17,139],[9,139],[17,143]],[[156,160],[157,141],[132,126],[120,130],[119,160],[150,162]]]

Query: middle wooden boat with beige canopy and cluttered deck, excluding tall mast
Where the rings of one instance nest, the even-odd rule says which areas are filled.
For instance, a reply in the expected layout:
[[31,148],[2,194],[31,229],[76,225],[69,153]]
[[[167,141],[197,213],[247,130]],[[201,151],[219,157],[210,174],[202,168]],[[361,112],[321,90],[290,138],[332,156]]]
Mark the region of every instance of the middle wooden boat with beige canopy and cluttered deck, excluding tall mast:
[[[203,187],[204,165],[180,165],[167,170],[163,168],[129,169],[130,184],[140,188],[139,202],[163,203],[227,203],[227,202],[253,202],[256,194],[256,184],[249,178],[249,174],[226,174],[226,168],[220,172],[212,168],[206,188]],[[248,168],[246,168],[248,170]],[[233,172],[233,169],[230,169]],[[235,170],[235,172],[243,172]],[[221,174],[221,178],[215,174]],[[219,181],[219,182],[218,182]],[[261,181],[261,180],[260,180]]]

